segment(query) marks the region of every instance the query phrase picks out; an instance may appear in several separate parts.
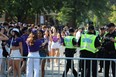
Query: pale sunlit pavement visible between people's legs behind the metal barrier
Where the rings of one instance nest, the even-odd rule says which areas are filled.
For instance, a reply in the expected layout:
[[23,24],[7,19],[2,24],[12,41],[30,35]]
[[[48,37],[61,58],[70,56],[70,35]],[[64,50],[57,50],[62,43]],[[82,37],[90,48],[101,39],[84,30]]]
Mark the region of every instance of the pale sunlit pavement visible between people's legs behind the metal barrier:
[[[64,55],[62,54],[63,49],[61,49],[61,50],[62,50],[61,57],[64,57]],[[78,51],[74,57],[79,57]],[[74,61],[74,63],[75,63],[75,69],[77,70],[78,69],[78,61],[76,60],[76,61]],[[65,61],[64,60],[60,60],[59,66],[52,65],[52,63],[51,63],[50,66],[48,67],[47,63],[46,63],[45,77],[62,77],[62,73],[63,73],[64,69],[65,69]],[[7,77],[7,76],[0,75],[0,77]],[[9,77],[13,77],[12,74]],[[22,77],[26,77],[25,74],[22,74]],[[67,77],[74,77],[73,74],[71,74],[71,70],[69,70]],[[98,73],[98,77],[103,77],[103,73]]]

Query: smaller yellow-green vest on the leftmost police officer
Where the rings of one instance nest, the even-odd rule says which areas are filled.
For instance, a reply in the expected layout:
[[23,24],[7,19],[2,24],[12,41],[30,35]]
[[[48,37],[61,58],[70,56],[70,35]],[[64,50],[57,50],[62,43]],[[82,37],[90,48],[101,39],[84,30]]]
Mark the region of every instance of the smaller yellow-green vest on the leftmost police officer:
[[[66,36],[65,38],[64,38],[64,43],[65,43],[65,48],[72,48],[72,49],[74,49],[74,48],[76,48],[74,45],[73,45],[73,43],[72,43],[72,40],[74,39],[75,37],[74,36]],[[76,38],[75,38],[76,39]]]

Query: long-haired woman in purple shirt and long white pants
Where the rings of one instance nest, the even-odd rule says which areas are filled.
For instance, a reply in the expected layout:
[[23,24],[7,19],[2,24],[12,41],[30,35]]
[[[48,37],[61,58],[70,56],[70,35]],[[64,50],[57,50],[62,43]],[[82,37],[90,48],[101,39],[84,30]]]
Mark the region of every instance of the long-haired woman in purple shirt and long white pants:
[[[29,34],[29,37],[27,38],[26,42],[28,45],[26,77],[39,77],[39,68],[40,68],[39,49],[40,46],[42,45],[42,42],[38,39],[38,32],[36,30],[32,31]],[[32,57],[34,58],[32,59]]]

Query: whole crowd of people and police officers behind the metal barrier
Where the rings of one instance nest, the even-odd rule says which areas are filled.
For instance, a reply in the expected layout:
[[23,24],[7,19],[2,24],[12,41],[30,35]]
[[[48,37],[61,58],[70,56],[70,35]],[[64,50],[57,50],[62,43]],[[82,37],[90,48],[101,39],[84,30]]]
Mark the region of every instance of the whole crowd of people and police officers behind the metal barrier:
[[[7,61],[9,64],[7,73],[14,72],[13,77],[21,77],[21,72],[26,72],[26,77],[39,77],[41,68],[41,77],[45,74],[46,61],[54,62],[59,66],[59,59],[45,59],[39,57],[59,57],[60,47],[64,46],[64,55],[74,57],[77,47],[79,47],[80,58],[110,58],[116,59],[116,28],[114,23],[101,26],[98,30],[89,22],[87,27],[80,26],[77,29],[65,26],[56,28],[55,26],[34,25],[34,24],[8,24],[0,25],[0,58],[11,57]],[[23,56],[23,58],[21,58]],[[30,57],[30,58],[26,58]],[[74,77],[78,77],[78,72],[73,67],[72,60],[66,60],[66,69],[62,77],[67,77],[69,68],[72,70]],[[104,65],[103,61],[99,62],[100,70]],[[115,77],[115,65],[112,61],[105,61],[105,77],[109,77],[110,64],[112,74]],[[2,59],[0,59],[0,70]],[[92,66],[92,76],[97,77],[97,61],[79,61],[79,72],[81,77],[90,77],[90,67]],[[33,72],[34,71],[34,72]],[[86,72],[86,73],[85,73]]]

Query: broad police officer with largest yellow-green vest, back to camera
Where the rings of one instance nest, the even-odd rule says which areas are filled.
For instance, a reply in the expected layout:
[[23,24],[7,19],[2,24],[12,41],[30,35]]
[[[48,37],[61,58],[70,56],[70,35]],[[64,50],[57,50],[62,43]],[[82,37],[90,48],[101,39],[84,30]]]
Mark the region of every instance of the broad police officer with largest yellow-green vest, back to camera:
[[[82,34],[78,41],[78,45],[80,46],[81,58],[96,58],[97,47],[100,47],[100,42],[98,40],[98,37],[95,35],[94,31],[94,26],[89,26],[88,32],[86,34]],[[92,72],[93,77],[97,77],[97,61],[81,60],[80,62],[81,63],[79,66],[81,66],[81,77],[91,77],[90,72]],[[86,68],[84,68],[84,65]],[[90,66],[92,66],[92,70],[90,70]]]

